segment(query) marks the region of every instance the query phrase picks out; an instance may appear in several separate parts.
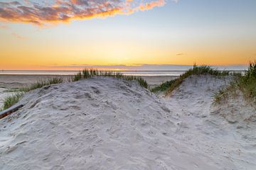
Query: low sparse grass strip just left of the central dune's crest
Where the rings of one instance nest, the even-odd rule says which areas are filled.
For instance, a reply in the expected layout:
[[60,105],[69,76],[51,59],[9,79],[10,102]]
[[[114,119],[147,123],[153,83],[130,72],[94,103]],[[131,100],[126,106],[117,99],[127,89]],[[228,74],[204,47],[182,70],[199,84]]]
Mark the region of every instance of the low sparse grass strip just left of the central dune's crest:
[[34,89],[42,88],[43,86],[48,86],[50,84],[61,84],[63,82],[63,79],[58,77],[55,77],[53,79],[40,80],[37,81],[35,84],[31,84],[31,86],[22,89],[22,91],[28,92]]

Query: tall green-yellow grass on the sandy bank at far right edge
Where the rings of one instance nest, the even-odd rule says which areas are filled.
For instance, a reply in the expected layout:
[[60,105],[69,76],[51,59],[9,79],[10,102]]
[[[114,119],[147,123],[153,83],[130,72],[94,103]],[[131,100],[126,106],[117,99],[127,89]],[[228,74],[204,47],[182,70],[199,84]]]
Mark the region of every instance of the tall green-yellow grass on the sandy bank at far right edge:
[[247,72],[242,74],[236,74],[236,79],[225,89],[220,89],[214,95],[215,103],[221,103],[226,100],[230,95],[236,95],[236,92],[242,91],[244,98],[247,101],[256,103],[256,62],[250,62]]

